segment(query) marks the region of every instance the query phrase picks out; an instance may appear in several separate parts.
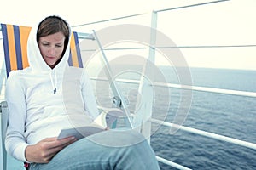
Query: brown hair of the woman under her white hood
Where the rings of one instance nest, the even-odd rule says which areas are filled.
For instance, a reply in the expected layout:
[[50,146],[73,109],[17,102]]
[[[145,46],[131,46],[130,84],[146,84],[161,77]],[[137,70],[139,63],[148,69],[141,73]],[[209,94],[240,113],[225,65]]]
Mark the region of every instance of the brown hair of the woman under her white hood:
[[55,15],[48,16],[39,23],[38,31],[37,31],[37,42],[39,41],[40,37],[49,36],[57,32],[62,32],[63,35],[65,36],[64,50],[63,50],[63,54],[64,54],[67,48],[70,30],[69,30],[67,21],[63,20],[59,16],[55,16]]

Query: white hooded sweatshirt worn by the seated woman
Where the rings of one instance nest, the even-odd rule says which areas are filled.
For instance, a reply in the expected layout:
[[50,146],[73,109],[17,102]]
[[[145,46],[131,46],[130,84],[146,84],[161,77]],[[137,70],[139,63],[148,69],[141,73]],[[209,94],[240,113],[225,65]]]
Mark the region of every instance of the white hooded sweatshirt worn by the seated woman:
[[62,128],[84,126],[98,116],[96,99],[84,69],[70,67],[69,43],[61,62],[51,69],[40,54],[33,27],[27,42],[29,67],[11,71],[6,83],[8,153],[26,161],[29,144],[56,137]]

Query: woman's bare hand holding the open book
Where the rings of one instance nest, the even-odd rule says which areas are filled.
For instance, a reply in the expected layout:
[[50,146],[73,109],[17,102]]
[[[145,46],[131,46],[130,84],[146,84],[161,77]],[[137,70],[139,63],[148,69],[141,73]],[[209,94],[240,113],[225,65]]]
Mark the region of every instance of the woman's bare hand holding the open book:
[[26,160],[36,163],[48,163],[60,150],[76,140],[73,137],[65,139],[47,138],[41,140],[38,144],[28,145],[25,150]]

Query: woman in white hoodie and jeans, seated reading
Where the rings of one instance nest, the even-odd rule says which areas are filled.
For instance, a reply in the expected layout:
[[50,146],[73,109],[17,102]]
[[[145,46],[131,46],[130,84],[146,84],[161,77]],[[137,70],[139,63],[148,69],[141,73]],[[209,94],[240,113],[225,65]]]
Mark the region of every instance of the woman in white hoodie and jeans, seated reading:
[[159,169],[153,150],[133,131],[56,139],[61,129],[88,125],[98,116],[89,77],[67,65],[70,32],[58,16],[32,28],[30,66],[11,71],[6,84],[7,151],[30,169]]

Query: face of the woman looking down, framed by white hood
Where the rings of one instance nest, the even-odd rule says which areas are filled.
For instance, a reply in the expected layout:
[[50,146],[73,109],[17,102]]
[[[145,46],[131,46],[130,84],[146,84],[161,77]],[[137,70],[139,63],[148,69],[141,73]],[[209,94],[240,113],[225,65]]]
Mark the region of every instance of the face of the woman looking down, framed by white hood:
[[50,68],[57,65],[64,50],[65,36],[62,32],[56,32],[45,37],[39,37],[38,46],[43,59]]

